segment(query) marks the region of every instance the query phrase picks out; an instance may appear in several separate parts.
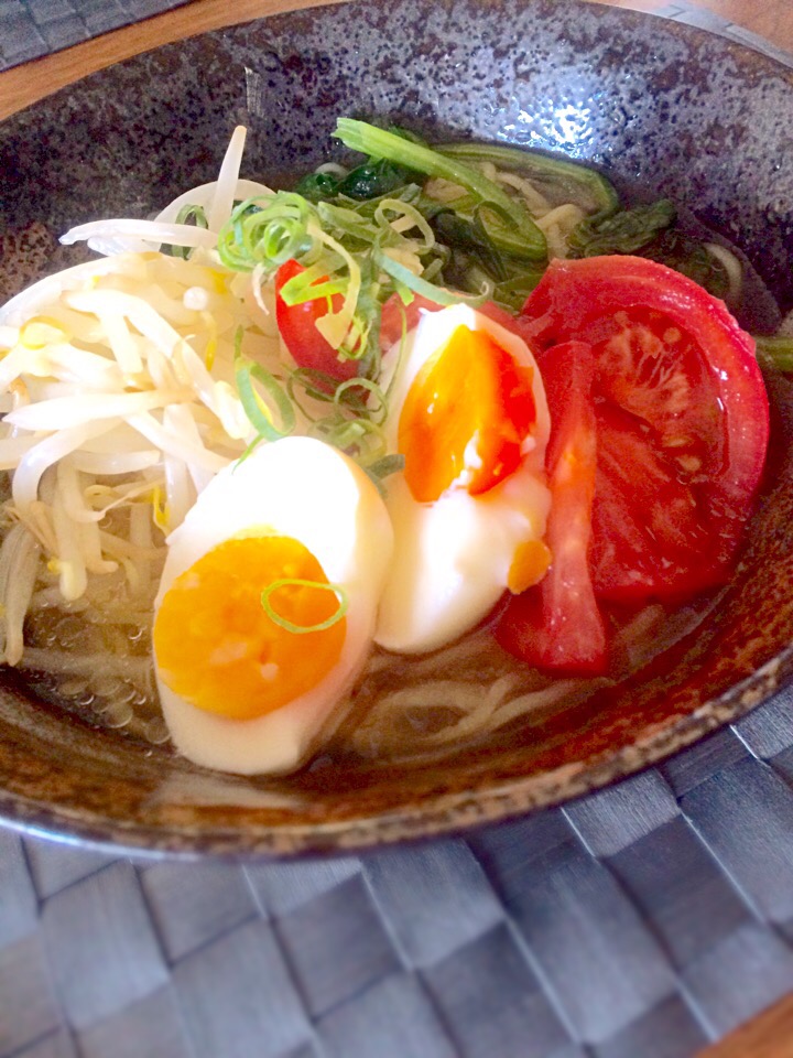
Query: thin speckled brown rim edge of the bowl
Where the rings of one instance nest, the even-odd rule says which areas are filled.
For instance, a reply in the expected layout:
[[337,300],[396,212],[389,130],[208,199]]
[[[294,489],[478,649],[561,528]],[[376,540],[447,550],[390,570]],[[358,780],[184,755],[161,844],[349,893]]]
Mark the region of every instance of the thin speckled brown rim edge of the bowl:
[[[298,9],[276,18],[304,15],[312,10],[325,11],[328,8]],[[613,8],[608,11],[612,19],[644,21],[656,18]],[[684,40],[713,36],[706,31],[670,21],[664,22],[664,31]],[[793,72],[750,46],[718,40],[732,53],[750,56],[752,64],[768,64],[768,68],[782,74],[791,83],[793,91]],[[24,833],[95,848],[116,855],[127,852],[133,856],[167,854],[184,859],[207,855],[278,859],[341,854],[395,842],[467,833],[477,827],[569,801],[658,764],[708,733],[738,720],[768,700],[792,674],[793,645],[789,645],[724,693],[702,701],[689,714],[660,725],[655,731],[645,732],[621,748],[598,754],[585,763],[579,762],[577,766],[564,765],[542,774],[501,780],[492,786],[441,792],[427,802],[408,803],[389,812],[361,814],[352,820],[284,823],[278,827],[247,824],[243,830],[213,829],[207,825],[191,828],[188,824],[149,825],[119,821],[100,813],[54,808],[3,791],[0,791],[0,820]]]

